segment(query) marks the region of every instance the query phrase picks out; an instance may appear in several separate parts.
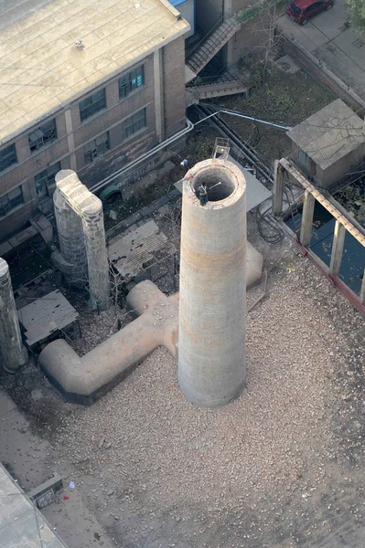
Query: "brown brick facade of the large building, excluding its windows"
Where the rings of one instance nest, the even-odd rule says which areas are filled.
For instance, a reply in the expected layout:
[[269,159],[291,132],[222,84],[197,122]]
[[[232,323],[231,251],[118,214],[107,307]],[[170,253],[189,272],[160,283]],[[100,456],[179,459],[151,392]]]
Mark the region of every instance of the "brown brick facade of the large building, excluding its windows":
[[[136,63],[135,66],[143,64],[145,67],[145,85],[123,100],[119,100],[118,79],[134,67],[121,70],[102,86],[106,93],[106,109],[90,119],[81,123],[81,97],[56,115],[19,134],[15,141],[18,162],[0,174],[0,196],[21,186],[24,204],[0,217],[0,240],[25,227],[35,213],[38,195],[34,176],[48,166],[60,162],[61,169],[73,169],[81,176],[83,183],[91,184],[109,174],[109,164],[114,159],[122,156],[121,163],[128,163],[184,127],[184,43],[184,37],[178,37],[175,42]],[[121,123],[142,108],[146,109],[146,128],[122,142]],[[58,139],[31,153],[28,134],[53,118],[56,118]],[[84,145],[107,131],[110,132],[111,150],[93,163],[85,164]]]

